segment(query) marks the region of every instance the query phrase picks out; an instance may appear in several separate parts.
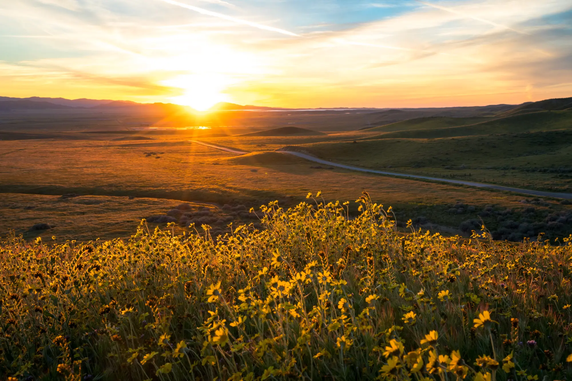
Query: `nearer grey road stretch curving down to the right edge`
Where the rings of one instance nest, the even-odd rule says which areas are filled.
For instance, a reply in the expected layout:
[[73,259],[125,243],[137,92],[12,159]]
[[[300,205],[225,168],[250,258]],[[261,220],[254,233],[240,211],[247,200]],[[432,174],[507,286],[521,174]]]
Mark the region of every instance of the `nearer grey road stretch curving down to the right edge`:
[[313,157],[312,155],[303,154],[303,153],[301,153],[301,152],[296,152],[296,151],[282,151],[282,150],[277,150],[276,152],[280,152],[280,153],[283,153],[283,154],[295,155],[295,156],[297,156],[297,157],[300,157],[300,158],[303,158],[303,159],[306,159],[306,160],[309,160],[309,161],[313,161],[313,162],[316,162],[316,163],[320,163],[320,164],[324,164],[324,165],[329,165],[329,166],[332,166],[332,167],[339,167],[339,168],[349,169],[349,170],[353,170],[353,171],[376,173],[376,174],[380,174],[380,175],[390,175],[390,176],[408,177],[408,178],[413,178],[413,179],[423,179],[423,180],[430,180],[430,181],[440,181],[440,182],[446,182],[446,183],[453,183],[453,184],[460,184],[460,185],[468,185],[468,186],[478,187],[478,188],[496,189],[496,190],[502,190],[502,191],[509,191],[509,192],[520,193],[520,194],[528,194],[528,195],[533,195],[533,196],[543,196],[543,197],[572,199],[572,193],[557,193],[557,192],[535,191],[535,190],[530,190],[530,189],[520,189],[520,188],[513,188],[513,187],[505,187],[505,186],[502,186],[502,185],[474,183],[474,182],[471,182],[471,181],[462,181],[462,180],[454,180],[454,179],[440,179],[440,178],[436,178],[436,177],[428,177],[428,176],[421,176],[421,175],[408,175],[408,174],[403,174],[403,173],[377,171],[377,170],[373,170],[373,169],[366,169],[366,168],[360,168],[360,167],[349,166],[349,165],[345,165],[345,164],[339,164],[339,163],[329,162],[329,161],[327,161],[327,160],[319,159],[319,158]]

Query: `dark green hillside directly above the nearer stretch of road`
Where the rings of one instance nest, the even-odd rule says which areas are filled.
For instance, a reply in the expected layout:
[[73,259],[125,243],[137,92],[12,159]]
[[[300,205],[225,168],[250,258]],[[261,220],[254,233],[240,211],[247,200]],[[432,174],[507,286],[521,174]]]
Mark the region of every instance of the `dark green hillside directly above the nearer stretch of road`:
[[[387,135],[390,134],[382,136]],[[372,169],[543,190],[572,189],[572,130],[438,139],[370,139],[300,147],[323,159]]]

